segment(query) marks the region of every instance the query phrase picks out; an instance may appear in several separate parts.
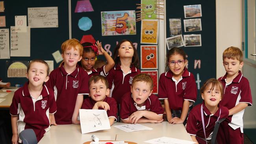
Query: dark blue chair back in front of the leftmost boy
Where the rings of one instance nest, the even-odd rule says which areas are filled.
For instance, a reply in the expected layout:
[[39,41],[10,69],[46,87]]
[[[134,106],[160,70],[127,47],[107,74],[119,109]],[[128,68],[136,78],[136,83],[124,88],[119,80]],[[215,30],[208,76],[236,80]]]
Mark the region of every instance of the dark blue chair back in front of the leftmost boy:
[[24,129],[20,132],[19,138],[23,144],[37,144],[37,137],[33,129]]

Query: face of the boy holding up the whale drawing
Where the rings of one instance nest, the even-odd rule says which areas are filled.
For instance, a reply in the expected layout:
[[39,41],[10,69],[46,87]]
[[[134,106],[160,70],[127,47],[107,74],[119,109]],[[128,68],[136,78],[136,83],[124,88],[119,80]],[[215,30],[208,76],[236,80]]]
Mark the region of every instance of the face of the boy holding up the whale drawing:
[[99,80],[96,83],[92,81],[89,89],[90,89],[89,96],[91,96],[91,98],[96,102],[103,101],[106,98],[106,95],[108,95],[110,91],[109,89],[107,89],[105,83],[103,83],[102,80]]

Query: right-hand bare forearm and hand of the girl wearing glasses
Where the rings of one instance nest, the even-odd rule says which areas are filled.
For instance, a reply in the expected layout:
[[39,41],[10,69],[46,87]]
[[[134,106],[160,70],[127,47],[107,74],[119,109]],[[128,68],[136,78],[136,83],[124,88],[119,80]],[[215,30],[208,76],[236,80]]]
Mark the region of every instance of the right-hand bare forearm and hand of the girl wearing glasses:
[[181,116],[180,116],[180,118],[175,117],[175,118],[171,119],[172,124],[182,124],[185,121],[185,119],[187,117],[188,109],[189,109],[189,104],[190,104],[190,102],[188,100],[184,100]]

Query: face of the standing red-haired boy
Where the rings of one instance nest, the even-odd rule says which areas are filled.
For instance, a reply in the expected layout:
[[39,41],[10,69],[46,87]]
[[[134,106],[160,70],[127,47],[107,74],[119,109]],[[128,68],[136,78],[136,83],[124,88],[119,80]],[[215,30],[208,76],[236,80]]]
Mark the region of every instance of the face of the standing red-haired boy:
[[76,66],[77,62],[82,59],[78,50],[74,50],[71,48],[70,50],[65,50],[63,54],[61,54],[65,65],[67,66]]

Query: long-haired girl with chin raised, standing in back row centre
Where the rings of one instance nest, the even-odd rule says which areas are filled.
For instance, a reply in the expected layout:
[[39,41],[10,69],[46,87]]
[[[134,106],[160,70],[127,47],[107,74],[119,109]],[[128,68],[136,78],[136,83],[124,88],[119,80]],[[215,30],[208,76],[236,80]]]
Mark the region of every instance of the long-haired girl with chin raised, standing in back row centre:
[[112,68],[107,76],[110,97],[115,98],[117,105],[120,104],[122,96],[130,91],[132,79],[139,70],[139,57],[137,50],[133,43],[129,40],[122,40],[119,42],[114,50],[113,59],[115,66]]

